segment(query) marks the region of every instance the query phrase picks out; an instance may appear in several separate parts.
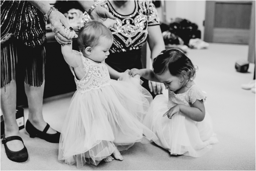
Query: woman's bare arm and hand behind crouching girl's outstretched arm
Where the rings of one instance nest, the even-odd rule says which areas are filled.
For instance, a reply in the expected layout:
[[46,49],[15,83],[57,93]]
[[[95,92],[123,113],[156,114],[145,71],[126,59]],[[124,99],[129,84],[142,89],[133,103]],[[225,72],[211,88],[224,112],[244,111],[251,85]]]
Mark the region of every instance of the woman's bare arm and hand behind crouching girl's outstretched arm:
[[[151,58],[153,61],[153,59],[156,58],[157,55],[165,49],[164,40],[159,25],[148,27],[148,44],[151,51]],[[150,91],[154,91],[154,94],[161,94],[163,92],[163,83],[149,81],[148,84]]]

